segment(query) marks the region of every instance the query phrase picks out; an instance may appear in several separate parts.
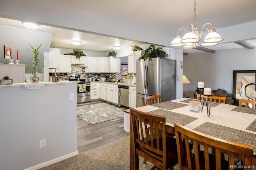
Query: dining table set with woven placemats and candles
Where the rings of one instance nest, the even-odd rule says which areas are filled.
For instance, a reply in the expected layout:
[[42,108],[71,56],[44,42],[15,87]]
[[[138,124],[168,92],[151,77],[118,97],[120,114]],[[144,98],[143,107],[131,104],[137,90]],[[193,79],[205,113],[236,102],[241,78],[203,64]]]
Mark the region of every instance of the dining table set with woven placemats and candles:
[[[256,109],[239,107],[224,103],[201,102],[199,112],[190,111],[190,101],[181,98],[153,105],[137,107],[138,111],[166,117],[166,131],[175,134],[174,123],[203,134],[214,136],[253,147],[252,164],[256,166]],[[204,103],[204,107],[203,106]],[[210,115],[207,114],[207,109]],[[193,109],[192,109],[193,110]],[[126,110],[128,113],[129,110]],[[209,116],[208,116],[209,115]],[[134,140],[130,125],[130,169],[134,169]]]

